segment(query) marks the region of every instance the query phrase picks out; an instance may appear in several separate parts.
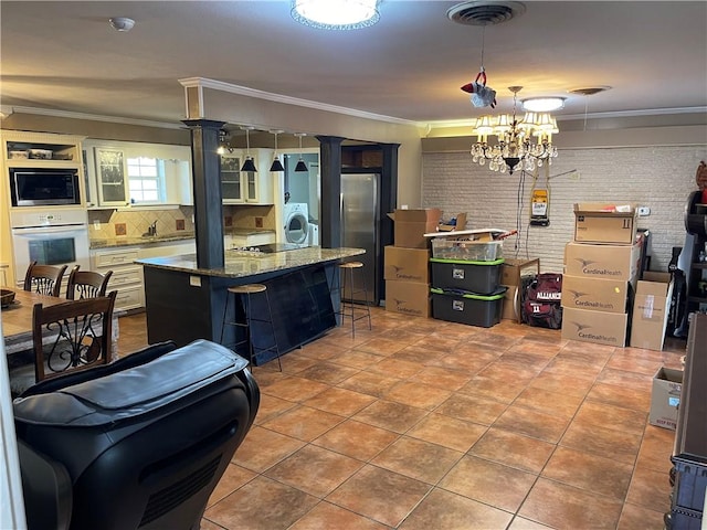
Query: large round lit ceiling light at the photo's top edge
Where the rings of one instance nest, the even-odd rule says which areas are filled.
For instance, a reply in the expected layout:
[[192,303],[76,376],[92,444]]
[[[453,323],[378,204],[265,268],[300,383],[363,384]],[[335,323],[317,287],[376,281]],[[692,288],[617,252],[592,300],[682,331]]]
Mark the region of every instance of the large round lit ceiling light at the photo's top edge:
[[380,0],[292,0],[297,22],[320,30],[358,30],[380,19]]

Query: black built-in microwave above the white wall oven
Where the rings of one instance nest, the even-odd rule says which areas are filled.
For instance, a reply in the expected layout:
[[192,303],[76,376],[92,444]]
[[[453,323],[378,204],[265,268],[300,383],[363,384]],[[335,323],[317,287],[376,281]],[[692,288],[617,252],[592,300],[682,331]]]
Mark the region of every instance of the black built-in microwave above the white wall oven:
[[81,204],[77,169],[10,168],[13,206]]

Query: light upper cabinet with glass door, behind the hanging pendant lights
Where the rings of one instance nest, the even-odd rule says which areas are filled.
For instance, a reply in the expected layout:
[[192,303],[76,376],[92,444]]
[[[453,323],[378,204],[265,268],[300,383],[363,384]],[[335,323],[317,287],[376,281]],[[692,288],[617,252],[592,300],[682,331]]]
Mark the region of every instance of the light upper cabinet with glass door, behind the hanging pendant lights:
[[251,149],[257,171],[241,171],[245,150],[233,149],[221,155],[221,195],[224,204],[273,204],[273,180],[270,172],[273,151]]

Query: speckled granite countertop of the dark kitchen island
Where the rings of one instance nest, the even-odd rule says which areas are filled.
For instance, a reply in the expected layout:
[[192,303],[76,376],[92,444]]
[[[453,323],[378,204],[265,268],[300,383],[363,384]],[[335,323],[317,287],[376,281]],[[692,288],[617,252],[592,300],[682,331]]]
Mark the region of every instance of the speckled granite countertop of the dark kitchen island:
[[317,263],[335,262],[337,259],[358,256],[365,254],[363,248],[321,248],[320,246],[309,246],[294,251],[276,252],[274,254],[255,254],[225,251],[223,268],[199,268],[197,266],[196,254],[183,254],[180,256],[151,257],[138,259],[135,263],[146,267],[163,268],[168,271],[180,271],[203,276],[224,276],[230,278],[241,278],[257,274],[273,273],[298,268]]

